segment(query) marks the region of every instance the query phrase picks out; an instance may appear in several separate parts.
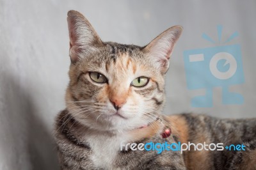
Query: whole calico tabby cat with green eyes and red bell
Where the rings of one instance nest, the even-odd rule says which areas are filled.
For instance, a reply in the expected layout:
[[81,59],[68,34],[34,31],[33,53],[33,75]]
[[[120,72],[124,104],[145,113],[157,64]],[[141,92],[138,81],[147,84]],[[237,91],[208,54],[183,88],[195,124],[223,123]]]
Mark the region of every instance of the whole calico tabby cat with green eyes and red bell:
[[[164,77],[181,26],[139,47],[102,42],[79,12],[68,12],[70,82],[56,118],[61,169],[256,169],[256,120],[161,114]],[[164,130],[172,135],[164,136]],[[253,141],[254,140],[254,141]],[[244,144],[245,151],[127,150],[127,143]]]

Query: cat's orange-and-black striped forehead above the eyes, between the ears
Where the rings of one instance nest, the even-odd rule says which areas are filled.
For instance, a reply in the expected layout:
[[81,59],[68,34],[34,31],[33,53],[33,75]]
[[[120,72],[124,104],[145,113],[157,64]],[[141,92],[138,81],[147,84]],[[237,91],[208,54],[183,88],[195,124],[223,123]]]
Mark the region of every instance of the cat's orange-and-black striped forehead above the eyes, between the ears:
[[[147,58],[143,47],[106,42],[104,47],[84,59],[83,68],[87,72],[100,72],[118,80],[125,77],[152,75],[154,65]],[[82,68],[82,69],[83,69]],[[154,71],[152,71],[154,70]]]

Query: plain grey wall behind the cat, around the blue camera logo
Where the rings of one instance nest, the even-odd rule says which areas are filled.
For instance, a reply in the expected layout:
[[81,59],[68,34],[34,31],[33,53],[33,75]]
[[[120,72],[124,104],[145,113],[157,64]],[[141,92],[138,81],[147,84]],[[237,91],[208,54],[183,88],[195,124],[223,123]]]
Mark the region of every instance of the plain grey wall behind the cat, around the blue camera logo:
[[[168,27],[183,26],[166,76],[164,113],[251,118],[256,116],[255,7],[253,0],[0,0],[0,169],[58,169],[52,127],[65,108],[68,10],[83,13],[104,41],[145,45]],[[225,37],[239,33],[230,44],[241,45],[245,82],[232,89],[244,96],[244,104],[222,105],[216,88],[213,107],[193,108],[191,98],[202,91],[186,88],[182,53],[212,47],[201,36],[217,38],[218,24]]]

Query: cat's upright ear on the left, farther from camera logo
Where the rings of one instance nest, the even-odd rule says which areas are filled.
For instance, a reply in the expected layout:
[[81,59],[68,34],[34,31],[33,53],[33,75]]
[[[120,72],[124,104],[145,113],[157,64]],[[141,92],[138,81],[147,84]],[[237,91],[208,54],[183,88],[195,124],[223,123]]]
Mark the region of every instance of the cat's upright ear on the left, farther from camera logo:
[[72,63],[76,63],[81,56],[97,49],[103,43],[90,22],[81,13],[69,11],[67,21],[70,39],[69,56]]

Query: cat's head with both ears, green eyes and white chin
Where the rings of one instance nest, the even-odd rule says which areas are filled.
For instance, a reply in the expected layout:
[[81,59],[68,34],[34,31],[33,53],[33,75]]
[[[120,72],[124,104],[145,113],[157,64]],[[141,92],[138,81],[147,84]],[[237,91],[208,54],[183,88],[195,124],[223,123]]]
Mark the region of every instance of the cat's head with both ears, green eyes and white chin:
[[182,27],[170,27],[145,47],[102,42],[81,13],[68,12],[70,83],[67,109],[87,127],[129,130],[156,120],[164,105],[164,75]]

